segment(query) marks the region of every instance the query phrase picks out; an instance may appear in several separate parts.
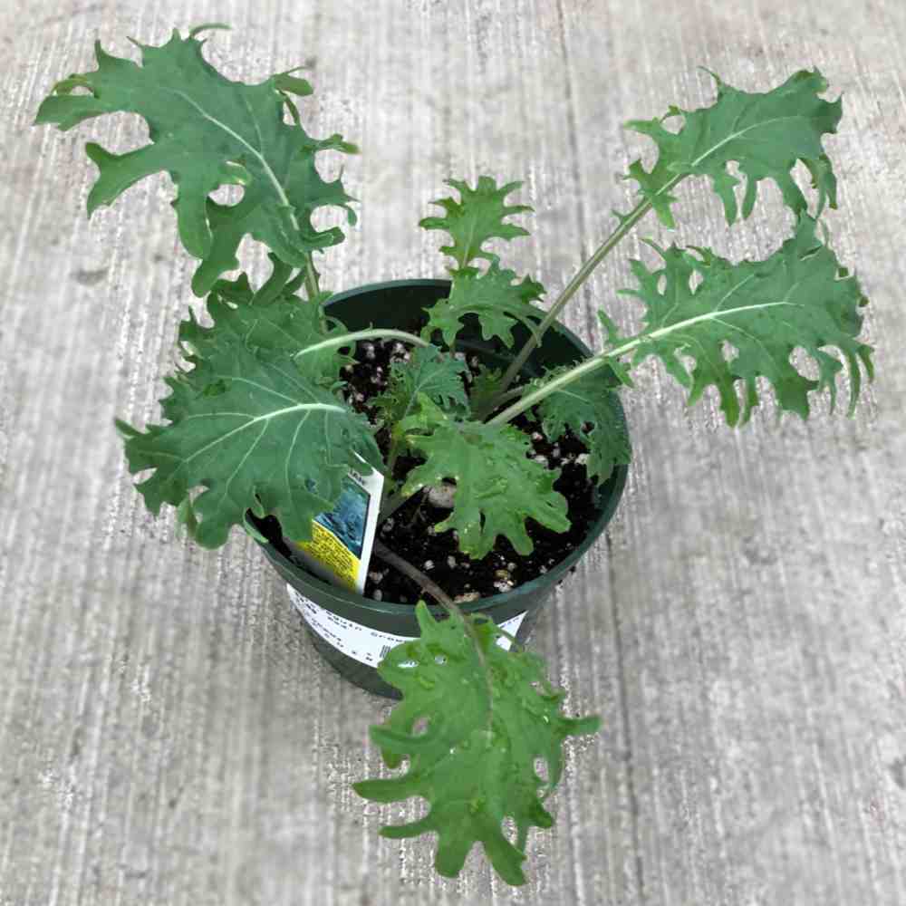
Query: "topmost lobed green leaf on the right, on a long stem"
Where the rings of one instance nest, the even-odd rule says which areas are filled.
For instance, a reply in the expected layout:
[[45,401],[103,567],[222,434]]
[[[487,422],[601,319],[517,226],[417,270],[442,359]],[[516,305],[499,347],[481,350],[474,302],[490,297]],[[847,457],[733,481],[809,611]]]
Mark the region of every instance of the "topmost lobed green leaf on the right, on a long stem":
[[[734,188],[739,181],[728,172],[728,162],[737,162],[747,179],[742,215],[748,217],[755,207],[758,182],[773,179],[784,201],[795,214],[806,210],[805,197],[791,175],[801,160],[812,176],[818,192],[820,217],[825,202],[836,207],[836,178],[824,153],[822,136],[834,133],[842,115],[842,103],[823,101],[824,76],[814,70],[795,72],[770,92],[742,92],[710,73],[718,85],[718,100],[696,111],[670,110],[659,119],[631,120],[628,129],[649,136],[658,146],[658,159],[647,171],[641,159],[633,161],[625,179],[639,183],[639,194],[654,207],[664,226],[676,226],[670,206],[677,200],[670,195],[679,179],[689,175],[709,176],[724,205],[727,222],[737,219]],[[663,123],[681,117],[679,131]],[[628,215],[617,214],[621,220]]]

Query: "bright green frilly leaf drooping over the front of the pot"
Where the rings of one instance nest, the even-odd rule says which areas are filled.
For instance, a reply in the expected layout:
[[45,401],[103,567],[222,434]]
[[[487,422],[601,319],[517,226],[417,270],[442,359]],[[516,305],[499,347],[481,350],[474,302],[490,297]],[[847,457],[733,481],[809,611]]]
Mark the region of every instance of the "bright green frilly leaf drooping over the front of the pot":
[[[424,602],[415,613],[421,637],[391,649],[378,667],[402,699],[384,724],[371,728],[387,766],[404,757],[410,765],[402,776],[353,788],[375,802],[427,799],[428,814],[384,826],[381,836],[437,833],[440,874],[456,877],[480,842],[506,883],[523,884],[529,828],[554,824],[542,802],[563,774],[564,740],[597,732],[600,718],[565,717],[565,693],[549,683],[545,661],[529,651],[504,651],[492,620],[467,616],[476,643],[456,613],[436,621]],[[419,718],[428,726],[415,733]],[[535,772],[536,759],[545,762],[546,780]],[[503,832],[506,817],[516,824],[515,844]]]

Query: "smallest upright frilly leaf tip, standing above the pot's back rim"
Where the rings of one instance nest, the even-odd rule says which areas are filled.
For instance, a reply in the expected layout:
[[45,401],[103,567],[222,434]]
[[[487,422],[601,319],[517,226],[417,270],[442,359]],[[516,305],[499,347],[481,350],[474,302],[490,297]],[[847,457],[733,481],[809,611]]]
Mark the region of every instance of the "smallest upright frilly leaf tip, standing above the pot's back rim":
[[458,268],[465,267],[476,258],[496,259],[496,255],[482,247],[488,239],[509,240],[516,236],[528,236],[528,230],[522,226],[504,222],[510,214],[535,210],[529,205],[507,206],[504,203],[504,198],[519,188],[521,182],[508,182],[499,188],[496,180],[489,176],[478,177],[476,188],[470,188],[459,179],[446,179],[445,182],[458,190],[460,200],[438,198],[432,201],[431,204],[442,207],[447,216],[424,217],[419,220],[419,226],[446,230],[450,234],[453,245],[440,246],[440,251],[454,258]]

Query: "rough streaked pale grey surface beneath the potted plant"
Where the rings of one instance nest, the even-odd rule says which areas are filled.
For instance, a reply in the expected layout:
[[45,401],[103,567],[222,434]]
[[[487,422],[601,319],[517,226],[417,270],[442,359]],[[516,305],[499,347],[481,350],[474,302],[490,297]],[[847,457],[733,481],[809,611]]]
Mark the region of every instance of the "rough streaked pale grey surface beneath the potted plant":
[[[768,404],[734,432],[644,369],[619,515],[534,637],[604,728],[569,750],[521,890],[477,853],[452,882],[430,840],[377,837],[415,814],[350,786],[378,768],[367,727],[389,705],[325,666],[244,535],[204,553],[130,487],[111,419],[157,417],[197,304],[171,188],[89,224],[85,140],[126,149],[144,127],[30,123],[96,36],[128,55],[127,34],[211,20],[235,26],[207,45],[227,74],[305,63],[306,126],[361,143],[361,223],[323,258],[335,289],[443,275],[416,223],[444,178],[487,172],[525,179],[533,236],[507,261],[555,292],[629,207],[614,174],[650,156],[622,121],[710,102],[698,64],[749,90],[817,65],[844,93],[827,222],[872,299],[877,381],[855,419],[824,401],[777,427]],[[0,903],[906,903],[904,36],[893,0],[7,0]],[[704,184],[680,193],[681,243],[761,256],[789,226],[776,193],[731,231]],[[640,235],[670,241],[647,220],[569,311],[590,342],[596,304],[638,315],[613,290]]]

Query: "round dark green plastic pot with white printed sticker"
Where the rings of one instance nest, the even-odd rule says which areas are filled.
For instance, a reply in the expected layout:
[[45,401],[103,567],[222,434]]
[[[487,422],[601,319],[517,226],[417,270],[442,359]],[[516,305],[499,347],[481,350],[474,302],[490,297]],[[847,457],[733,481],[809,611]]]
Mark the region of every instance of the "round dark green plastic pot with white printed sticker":
[[[362,330],[373,325],[419,333],[427,320],[424,309],[446,297],[449,289],[448,280],[393,280],[337,294],[327,304],[327,310],[350,330]],[[513,333],[517,349],[525,342],[527,332],[517,325]],[[482,339],[477,320],[471,316],[459,333],[457,349],[469,355],[475,354],[479,361],[495,367],[506,367],[512,358],[500,342]],[[555,323],[525,362],[523,372],[535,377],[545,367],[572,364],[591,354],[578,337],[562,324]],[[524,642],[542,608],[552,597],[555,586],[594,544],[610,521],[622,496],[627,471],[626,466],[616,467],[611,477],[597,488],[598,516],[589,526],[582,544],[567,554],[563,561],[512,591],[460,604],[461,610],[487,613],[497,625],[503,625],[518,641]],[[399,699],[399,690],[381,679],[377,665],[391,647],[419,636],[414,606],[374,601],[324,582],[294,558],[292,542],[284,538],[273,517],[256,519],[250,512],[246,517],[268,539],[267,542],[256,540],[287,583],[290,598],[302,615],[314,647],[324,659],[362,689]],[[383,536],[382,540],[392,548],[392,533],[389,538]],[[435,618],[446,616],[439,604],[429,605],[429,610]]]

